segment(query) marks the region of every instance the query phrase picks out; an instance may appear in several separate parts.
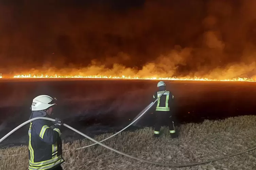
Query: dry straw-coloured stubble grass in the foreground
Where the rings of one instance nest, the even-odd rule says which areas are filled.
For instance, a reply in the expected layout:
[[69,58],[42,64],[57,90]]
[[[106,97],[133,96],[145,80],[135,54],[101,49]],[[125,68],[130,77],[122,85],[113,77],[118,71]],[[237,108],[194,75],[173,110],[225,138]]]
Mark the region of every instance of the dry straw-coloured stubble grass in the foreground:
[[[206,161],[214,157],[236,153],[256,144],[256,116],[239,116],[222,121],[204,121],[201,124],[185,124],[178,127],[180,137],[171,139],[167,128],[159,139],[153,138],[153,129],[144,128],[135,132],[123,132],[104,144],[130,155],[161,163],[188,163]],[[100,141],[112,134],[99,135]],[[65,170],[100,169],[256,169],[256,150],[210,164],[190,168],[170,168],[141,163],[126,158],[102,146],[87,149],[75,148],[91,144],[88,140],[74,141],[63,145],[62,166]],[[25,170],[28,167],[26,146],[0,150],[1,170]]]

